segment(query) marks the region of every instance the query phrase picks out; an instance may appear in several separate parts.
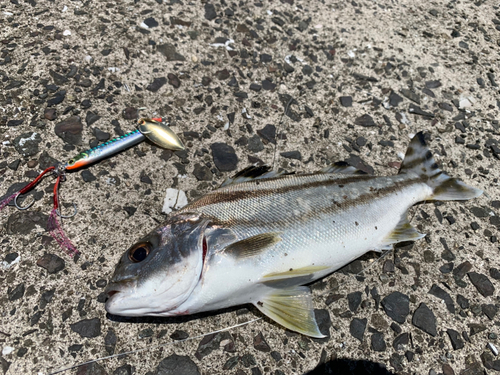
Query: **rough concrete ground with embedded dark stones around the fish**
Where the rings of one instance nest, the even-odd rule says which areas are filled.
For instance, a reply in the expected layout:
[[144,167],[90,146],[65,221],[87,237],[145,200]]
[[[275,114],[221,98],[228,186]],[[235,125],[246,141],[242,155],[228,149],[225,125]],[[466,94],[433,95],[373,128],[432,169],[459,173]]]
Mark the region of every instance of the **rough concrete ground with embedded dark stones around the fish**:
[[[45,229],[52,178],[29,210],[1,211],[0,375],[500,371],[497,3],[10,0],[0,12],[0,194],[141,116],[163,116],[187,146],[142,143],[68,174],[74,259]],[[251,164],[395,174],[420,130],[485,194],[414,207],[425,239],[313,284],[325,339],[267,318],[216,332],[262,318],[244,306],[106,316],[114,266],[165,219],[167,188],[193,200]]]

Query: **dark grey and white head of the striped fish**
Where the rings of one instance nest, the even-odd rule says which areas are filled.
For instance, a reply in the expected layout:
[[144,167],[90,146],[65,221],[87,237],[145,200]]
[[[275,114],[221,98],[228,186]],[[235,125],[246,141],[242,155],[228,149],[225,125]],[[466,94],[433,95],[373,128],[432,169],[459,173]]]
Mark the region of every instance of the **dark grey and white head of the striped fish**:
[[177,214],[121,257],[106,288],[106,311],[121,316],[173,316],[198,284],[206,219]]

